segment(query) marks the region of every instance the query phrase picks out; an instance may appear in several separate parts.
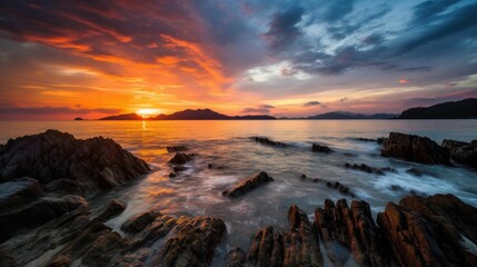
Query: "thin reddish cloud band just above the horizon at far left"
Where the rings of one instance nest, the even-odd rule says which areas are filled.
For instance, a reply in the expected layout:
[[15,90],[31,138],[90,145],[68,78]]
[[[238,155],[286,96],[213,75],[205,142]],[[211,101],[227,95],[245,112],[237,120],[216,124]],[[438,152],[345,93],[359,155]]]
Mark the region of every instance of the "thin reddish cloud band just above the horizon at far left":
[[119,113],[121,109],[106,109],[106,108],[70,108],[70,107],[16,107],[3,105],[0,108],[0,113],[2,115],[87,115],[87,113],[106,113],[106,115],[116,115]]

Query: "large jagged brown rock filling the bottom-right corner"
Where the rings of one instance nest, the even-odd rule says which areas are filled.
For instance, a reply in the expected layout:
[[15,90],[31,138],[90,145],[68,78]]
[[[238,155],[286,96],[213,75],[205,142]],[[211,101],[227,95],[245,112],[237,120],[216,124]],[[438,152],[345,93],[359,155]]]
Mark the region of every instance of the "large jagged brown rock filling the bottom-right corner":
[[399,265],[477,266],[477,209],[453,195],[405,197],[377,221]]

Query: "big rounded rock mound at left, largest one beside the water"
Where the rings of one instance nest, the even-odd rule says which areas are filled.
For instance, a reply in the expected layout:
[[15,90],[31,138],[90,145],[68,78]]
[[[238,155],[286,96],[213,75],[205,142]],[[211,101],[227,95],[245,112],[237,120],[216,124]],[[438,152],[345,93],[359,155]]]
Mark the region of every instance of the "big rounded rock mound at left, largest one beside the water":
[[80,140],[57,130],[10,139],[0,149],[0,181],[27,176],[47,185],[67,178],[83,191],[97,191],[148,170],[143,160],[111,139]]

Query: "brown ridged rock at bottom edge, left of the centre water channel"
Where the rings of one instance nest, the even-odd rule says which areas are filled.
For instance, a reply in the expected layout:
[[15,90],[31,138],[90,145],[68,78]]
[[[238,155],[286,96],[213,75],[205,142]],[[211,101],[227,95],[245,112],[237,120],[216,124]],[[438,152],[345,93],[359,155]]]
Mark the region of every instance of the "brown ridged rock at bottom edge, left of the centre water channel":
[[209,266],[226,233],[226,224],[211,217],[180,219],[152,266]]

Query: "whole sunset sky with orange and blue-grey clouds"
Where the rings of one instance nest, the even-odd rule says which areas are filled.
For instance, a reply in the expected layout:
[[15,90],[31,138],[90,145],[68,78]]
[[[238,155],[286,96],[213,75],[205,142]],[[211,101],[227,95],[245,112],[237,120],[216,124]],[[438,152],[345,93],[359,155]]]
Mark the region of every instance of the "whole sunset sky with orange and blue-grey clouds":
[[0,1],[0,119],[477,97],[476,14],[476,0]]

